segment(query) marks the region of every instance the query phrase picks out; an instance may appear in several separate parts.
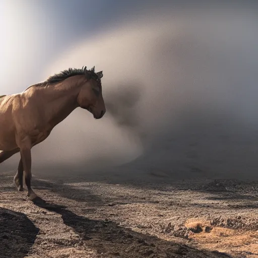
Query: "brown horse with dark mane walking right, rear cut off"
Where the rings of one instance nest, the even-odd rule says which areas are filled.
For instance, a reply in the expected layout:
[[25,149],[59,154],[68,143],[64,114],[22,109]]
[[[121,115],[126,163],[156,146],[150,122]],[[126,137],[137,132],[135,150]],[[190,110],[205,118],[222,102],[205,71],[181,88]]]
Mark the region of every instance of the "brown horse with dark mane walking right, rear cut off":
[[102,71],[95,67],[64,70],[19,94],[0,96],[0,163],[20,152],[14,183],[23,191],[23,173],[28,199],[37,198],[31,188],[31,148],[43,142],[55,125],[77,107],[91,112],[95,119],[105,112],[102,97]]

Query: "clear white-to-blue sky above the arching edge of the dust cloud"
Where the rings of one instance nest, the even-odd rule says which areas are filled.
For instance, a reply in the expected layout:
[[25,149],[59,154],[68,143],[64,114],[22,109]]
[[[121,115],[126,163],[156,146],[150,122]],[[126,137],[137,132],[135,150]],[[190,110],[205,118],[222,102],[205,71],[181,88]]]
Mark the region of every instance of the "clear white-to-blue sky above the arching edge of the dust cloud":
[[[78,42],[143,15],[161,17],[167,11],[174,16],[178,11],[202,9],[241,9],[255,15],[257,10],[255,1],[218,3],[220,1],[1,0],[3,84],[16,83],[12,70],[19,70],[19,89],[23,89],[37,82],[47,64]],[[12,89],[10,92],[13,93]]]

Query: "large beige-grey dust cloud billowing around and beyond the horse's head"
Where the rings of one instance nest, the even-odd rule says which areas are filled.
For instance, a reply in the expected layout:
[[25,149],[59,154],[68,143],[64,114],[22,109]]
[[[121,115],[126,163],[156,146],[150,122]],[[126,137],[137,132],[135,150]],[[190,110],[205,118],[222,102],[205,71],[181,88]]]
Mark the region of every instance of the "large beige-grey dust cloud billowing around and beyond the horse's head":
[[103,70],[107,112],[94,120],[76,109],[33,148],[34,168],[87,173],[127,164],[143,173],[254,178],[257,17],[239,8],[134,18],[66,49],[42,71],[46,79],[69,67]]

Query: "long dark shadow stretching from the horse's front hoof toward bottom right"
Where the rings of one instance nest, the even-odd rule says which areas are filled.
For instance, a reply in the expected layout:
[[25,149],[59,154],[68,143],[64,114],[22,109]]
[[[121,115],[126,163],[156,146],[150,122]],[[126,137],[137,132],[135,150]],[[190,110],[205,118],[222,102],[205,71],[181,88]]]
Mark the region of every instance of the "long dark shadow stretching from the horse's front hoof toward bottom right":
[[40,198],[34,203],[40,208],[61,215],[63,223],[73,228],[80,236],[81,245],[96,250],[101,257],[232,257],[225,253],[199,250],[185,244],[145,235],[112,221],[79,216],[64,206],[49,204]]

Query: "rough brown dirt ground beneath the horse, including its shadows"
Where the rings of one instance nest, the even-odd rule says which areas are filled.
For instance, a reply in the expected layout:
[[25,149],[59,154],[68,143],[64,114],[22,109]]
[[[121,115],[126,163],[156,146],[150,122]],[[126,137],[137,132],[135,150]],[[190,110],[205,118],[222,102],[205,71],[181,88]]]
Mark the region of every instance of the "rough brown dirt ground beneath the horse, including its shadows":
[[[34,177],[47,204],[0,173],[0,257],[258,257],[258,183]],[[27,255],[27,256],[26,256]]]

